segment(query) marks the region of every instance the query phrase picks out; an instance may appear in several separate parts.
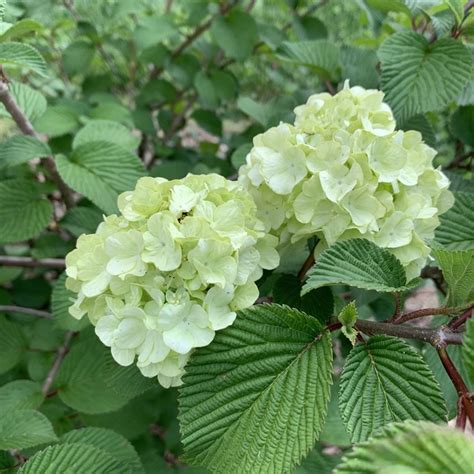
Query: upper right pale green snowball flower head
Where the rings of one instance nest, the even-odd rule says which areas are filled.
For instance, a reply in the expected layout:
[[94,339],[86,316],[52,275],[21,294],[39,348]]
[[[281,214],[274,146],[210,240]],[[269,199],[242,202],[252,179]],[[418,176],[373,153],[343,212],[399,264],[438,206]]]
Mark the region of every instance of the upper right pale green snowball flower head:
[[395,130],[383,93],[361,87],[311,96],[293,125],[257,135],[239,181],[254,197],[279,249],[320,239],[365,238],[391,251],[408,278],[418,276],[453,204],[449,181],[433,168],[435,150],[416,131]]

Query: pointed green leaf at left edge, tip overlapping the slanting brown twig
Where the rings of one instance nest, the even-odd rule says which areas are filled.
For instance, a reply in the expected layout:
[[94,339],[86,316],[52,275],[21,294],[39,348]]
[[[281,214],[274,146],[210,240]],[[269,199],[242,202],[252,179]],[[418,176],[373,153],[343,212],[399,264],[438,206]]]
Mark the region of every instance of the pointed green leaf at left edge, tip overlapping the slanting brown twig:
[[46,143],[28,135],[15,135],[0,144],[0,170],[49,155]]

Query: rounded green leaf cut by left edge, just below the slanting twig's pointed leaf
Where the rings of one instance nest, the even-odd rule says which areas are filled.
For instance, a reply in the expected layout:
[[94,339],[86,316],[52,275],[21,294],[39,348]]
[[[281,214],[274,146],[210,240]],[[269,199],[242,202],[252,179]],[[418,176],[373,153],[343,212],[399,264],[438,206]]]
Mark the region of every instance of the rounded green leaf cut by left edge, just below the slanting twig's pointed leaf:
[[0,182],[0,243],[36,237],[53,214],[51,203],[43,198],[41,185],[29,179]]

